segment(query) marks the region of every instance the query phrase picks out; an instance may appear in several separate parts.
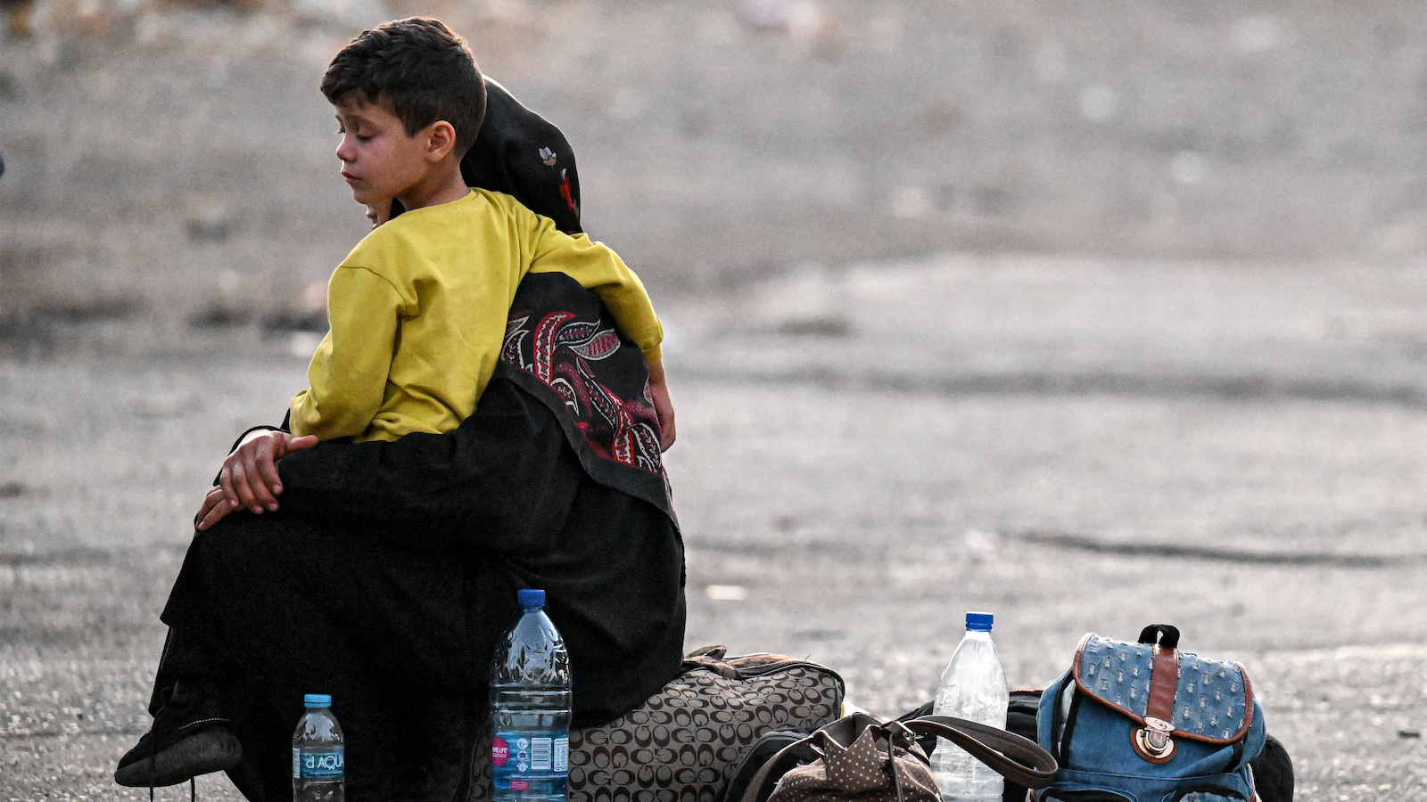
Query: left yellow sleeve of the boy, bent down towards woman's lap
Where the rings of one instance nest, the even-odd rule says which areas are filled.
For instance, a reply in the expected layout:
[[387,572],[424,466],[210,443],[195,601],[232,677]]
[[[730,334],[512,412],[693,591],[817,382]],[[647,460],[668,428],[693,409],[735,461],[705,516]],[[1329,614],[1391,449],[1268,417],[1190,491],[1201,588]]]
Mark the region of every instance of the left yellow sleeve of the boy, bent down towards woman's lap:
[[401,294],[361,267],[338,267],[327,287],[331,330],[293,397],[293,434],[360,437],[381,410],[401,318]]

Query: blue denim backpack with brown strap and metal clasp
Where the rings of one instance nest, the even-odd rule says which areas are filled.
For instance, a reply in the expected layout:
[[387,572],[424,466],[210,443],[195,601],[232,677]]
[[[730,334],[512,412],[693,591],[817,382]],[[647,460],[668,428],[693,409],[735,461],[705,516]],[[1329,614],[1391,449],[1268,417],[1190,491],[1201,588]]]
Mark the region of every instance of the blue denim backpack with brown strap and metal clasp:
[[1250,802],[1263,709],[1244,668],[1180,652],[1179,629],[1137,644],[1086,635],[1046,688],[1037,739],[1060,763],[1046,802]]

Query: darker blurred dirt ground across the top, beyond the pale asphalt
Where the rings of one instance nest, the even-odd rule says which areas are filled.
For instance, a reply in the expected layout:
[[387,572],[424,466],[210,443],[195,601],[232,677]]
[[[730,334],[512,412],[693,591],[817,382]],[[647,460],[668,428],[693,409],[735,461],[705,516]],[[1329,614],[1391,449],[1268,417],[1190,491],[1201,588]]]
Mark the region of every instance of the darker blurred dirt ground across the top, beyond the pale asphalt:
[[1407,0],[31,4],[0,40],[11,345],[57,310],[305,311],[364,230],[317,81],[415,13],[567,131],[586,228],[658,291],[948,250],[1427,250]]

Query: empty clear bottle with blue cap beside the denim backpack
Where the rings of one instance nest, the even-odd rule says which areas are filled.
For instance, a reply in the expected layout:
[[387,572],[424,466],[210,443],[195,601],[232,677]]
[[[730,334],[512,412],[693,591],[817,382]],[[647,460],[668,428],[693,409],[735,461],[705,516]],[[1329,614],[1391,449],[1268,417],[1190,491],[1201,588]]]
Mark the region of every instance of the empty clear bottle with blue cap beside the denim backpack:
[[[1006,728],[1010,691],[1006,668],[1000,665],[996,644],[990,642],[992,621],[989,612],[966,614],[966,636],[942,672],[933,714]],[[996,802],[1002,796],[1000,775],[945,738],[936,741],[932,752],[932,773],[948,802]]]

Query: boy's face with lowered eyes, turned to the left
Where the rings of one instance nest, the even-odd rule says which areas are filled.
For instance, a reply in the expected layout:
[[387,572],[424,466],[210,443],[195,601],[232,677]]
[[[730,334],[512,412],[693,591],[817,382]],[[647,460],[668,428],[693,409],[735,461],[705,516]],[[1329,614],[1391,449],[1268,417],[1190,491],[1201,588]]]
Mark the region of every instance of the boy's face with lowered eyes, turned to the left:
[[420,183],[431,167],[425,131],[407,134],[401,118],[385,103],[362,103],[347,96],[335,104],[337,158],[352,200],[362,204],[388,201]]

